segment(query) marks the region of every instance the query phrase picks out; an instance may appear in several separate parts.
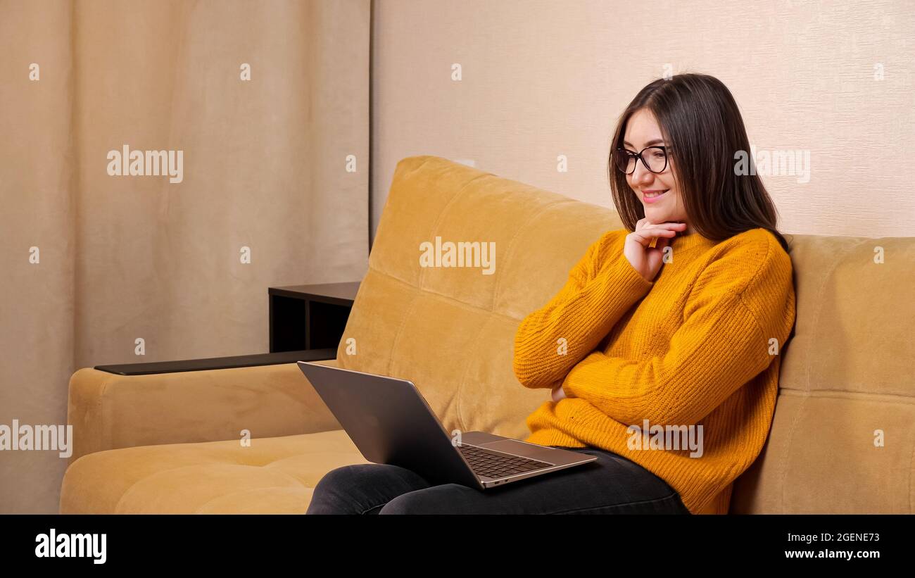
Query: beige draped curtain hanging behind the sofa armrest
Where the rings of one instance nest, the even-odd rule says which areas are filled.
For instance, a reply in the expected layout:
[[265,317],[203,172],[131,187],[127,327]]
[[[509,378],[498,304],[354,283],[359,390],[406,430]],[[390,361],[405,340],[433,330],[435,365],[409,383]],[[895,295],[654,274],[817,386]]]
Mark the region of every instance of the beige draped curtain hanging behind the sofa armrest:
[[[82,367],[266,352],[267,287],[361,279],[369,48],[370,0],[0,1],[0,425],[66,423]],[[0,452],[0,513],[56,512],[65,466]]]

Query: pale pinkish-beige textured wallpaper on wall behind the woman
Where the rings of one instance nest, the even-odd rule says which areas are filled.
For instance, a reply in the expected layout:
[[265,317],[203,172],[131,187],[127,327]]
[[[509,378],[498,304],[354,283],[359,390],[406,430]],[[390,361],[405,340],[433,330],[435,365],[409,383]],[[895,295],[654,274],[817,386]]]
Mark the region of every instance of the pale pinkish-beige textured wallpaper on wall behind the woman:
[[383,0],[374,10],[373,229],[396,162],[419,154],[612,208],[619,113],[651,80],[702,72],[734,94],[758,163],[798,161],[763,175],[780,230],[913,234],[913,2]]

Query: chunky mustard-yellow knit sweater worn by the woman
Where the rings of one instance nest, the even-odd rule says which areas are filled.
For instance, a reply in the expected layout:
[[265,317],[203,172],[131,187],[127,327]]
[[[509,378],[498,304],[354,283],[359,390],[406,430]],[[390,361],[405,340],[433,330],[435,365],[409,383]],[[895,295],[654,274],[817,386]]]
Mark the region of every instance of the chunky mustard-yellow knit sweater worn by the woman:
[[[769,434],[794,325],[791,257],[764,229],[720,242],[678,235],[649,282],[623,255],[628,232],[592,244],[518,328],[515,375],[547,399],[525,441],[609,450],[661,477],[694,514],[727,513],[733,481]],[[566,399],[549,401],[560,383]]]

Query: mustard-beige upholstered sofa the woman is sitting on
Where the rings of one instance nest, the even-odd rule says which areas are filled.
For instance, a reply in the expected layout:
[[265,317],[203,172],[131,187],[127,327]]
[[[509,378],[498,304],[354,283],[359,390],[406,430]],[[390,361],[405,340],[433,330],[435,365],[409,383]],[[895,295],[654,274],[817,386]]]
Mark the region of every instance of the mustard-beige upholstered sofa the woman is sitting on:
[[[609,209],[436,156],[404,158],[326,363],[413,380],[448,431],[521,439],[548,391],[515,379],[514,331],[592,241],[619,228]],[[420,244],[436,236],[494,241],[494,274],[421,267]],[[730,511],[910,513],[915,239],[794,235],[791,257],[797,320],[778,406]],[[291,363],[130,377],[80,369],[69,423],[63,513],[301,513],[328,470],[365,461]]]

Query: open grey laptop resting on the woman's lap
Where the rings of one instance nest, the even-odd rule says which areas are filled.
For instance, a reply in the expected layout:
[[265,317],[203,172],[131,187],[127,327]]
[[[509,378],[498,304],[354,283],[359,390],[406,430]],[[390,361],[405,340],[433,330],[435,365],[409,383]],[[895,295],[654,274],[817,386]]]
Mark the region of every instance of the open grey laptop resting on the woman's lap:
[[448,433],[410,380],[299,361],[365,459],[405,467],[431,484],[487,489],[597,457],[485,432]]

